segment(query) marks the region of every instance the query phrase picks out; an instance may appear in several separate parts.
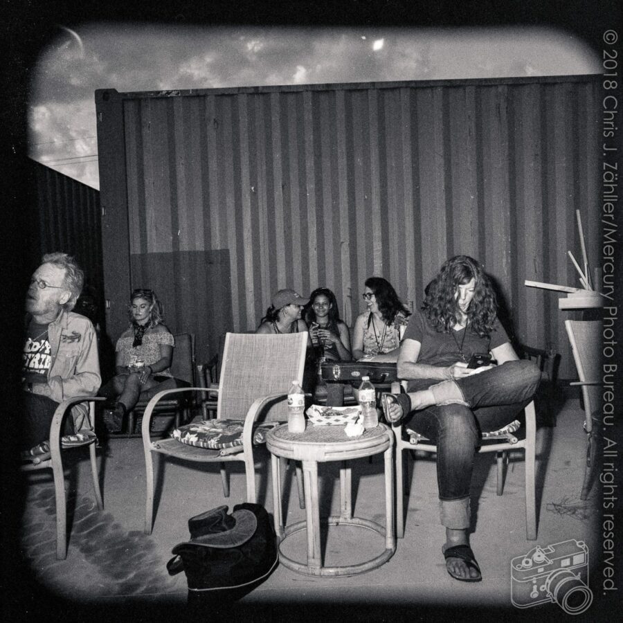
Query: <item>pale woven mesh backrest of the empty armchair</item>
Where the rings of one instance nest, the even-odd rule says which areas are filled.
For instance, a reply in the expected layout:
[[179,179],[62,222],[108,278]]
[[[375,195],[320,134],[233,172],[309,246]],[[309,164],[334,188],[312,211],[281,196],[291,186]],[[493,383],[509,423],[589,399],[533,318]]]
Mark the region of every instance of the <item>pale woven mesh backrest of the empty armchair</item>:
[[[287,335],[228,333],[219,378],[218,416],[244,419],[255,399],[287,393],[303,383],[307,332]],[[273,404],[269,419],[287,419],[287,401]]]

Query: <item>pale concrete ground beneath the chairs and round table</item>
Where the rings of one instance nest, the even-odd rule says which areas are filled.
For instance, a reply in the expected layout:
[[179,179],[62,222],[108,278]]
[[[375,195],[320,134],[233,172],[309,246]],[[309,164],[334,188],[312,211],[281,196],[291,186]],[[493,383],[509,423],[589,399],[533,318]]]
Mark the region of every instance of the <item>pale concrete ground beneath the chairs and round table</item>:
[[[496,496],[493,455],[482,455],[473,478],[473,534],[471,545],[483,580],[467,584],[446,572],[441,546],[444,530],[437,512],[435,461],[417,458],[412,470],[408,498],[406,533],[399,539],[394,556],[381,568],[363,575],[318,578],[300,575],[279,566],[261,586],[236,606],[213,603],[206,606],[211,620],[333,620],[351,616],[354,620],[416,620],[450,618],[463,620],[474,613],[493,613],[499,620],[530,619],[536,615],[556,618],[564,615],[552,602],[522,610],[512,600],[530,603],[515,581],[512,591],[512,559],[529,552],[536,544],[545,547],[563,541],[584,541],[598,566],[599,491],[593,487],[590,499],[579,500],[584,473],[586,439],[581,423],[584,413],[577,399],[559,407],[557,425],[541,422],[537,431],[538,539],[525,539],[523,461],[509,464],[503,496]],[[80,454],[82,451],[77,451]],[[72,453],[75,454],[76,452]],[[272,510],[266,451],[259,453],[257,482],[260,503]],[[145,466],[142,442],[113,439],[100,456],[100,478],[105,510],[98,512],[91,489],[89,462],[71,460],[66,471],[71,518],[69,550],[64,561],[55,559],[54,490],[46,472],[28,476],[24,514],[21,520],[21,551],[30,579],[26,580],[26,611],[37,610],[39,601],[49,599],[53,607],[67,608],[125,620],[154,620],[184,612],[187,588],[183,573],[170,577],[166,562],[171,549],[188,539],[188,518],[218,505],[230,509],[244,501],[242,464],[229,463],[231,497],[224,498],[218,465],[183,464],[168,460],[159,478],[159,501],[151,535],[143,534]],[[156,462],[160,455],[156,456]],[[354,514],[384,523],[383,461],[352,462]],[[291,523],[304,518],[298,507],[294,469],[285,476],[285,516]],[[338,464],[320,464],[320,514],[339,514]],[[271,514],[272,516],[272,514]],[[305,532],[289,541],[289,555],[305,558]],[[299,538],[300,537],[300,538]],[[325,536],[325,564],[354,563],[383,550],[383,539],[360,527],[332,527]],[[597,576],[597,573],[594,574]],[[28,575],[26,575],[28,578]],[[590,584],[593,586],[592,582]],[[525,588],[525,586],[523,587]],[[591,613],[602,599],[595,598]],[[40,604],[39,604],[40,605]],[[52,606],[51,606],[52,607]],[[594,612],[594,611],[593,611]],[[239,616],[240,615],[240,616]],[[565,615],[566,617],[567,615]],[[80,616],[81,620],[87,620]],[[576,620],[582,619],[576,617]],[[598,620],[588,617],[587,620]]]

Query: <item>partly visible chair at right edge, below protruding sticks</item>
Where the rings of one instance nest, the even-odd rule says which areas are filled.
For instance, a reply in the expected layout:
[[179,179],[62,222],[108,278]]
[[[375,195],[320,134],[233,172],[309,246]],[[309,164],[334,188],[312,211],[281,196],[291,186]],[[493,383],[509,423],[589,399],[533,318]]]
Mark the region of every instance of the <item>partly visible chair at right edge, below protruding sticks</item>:
[[580,494],[586,500],[595,473],[597,460],[597,442],[599,424],[597,417],[602,400],[602,363],[600,361],[600,343],[602,341],[602,323],[600,320],[565,320],[565,329],[571,343],[573,359],[579,381],[570,385],[580,386],[584,401],[584,431],[586,432],[586,467]]

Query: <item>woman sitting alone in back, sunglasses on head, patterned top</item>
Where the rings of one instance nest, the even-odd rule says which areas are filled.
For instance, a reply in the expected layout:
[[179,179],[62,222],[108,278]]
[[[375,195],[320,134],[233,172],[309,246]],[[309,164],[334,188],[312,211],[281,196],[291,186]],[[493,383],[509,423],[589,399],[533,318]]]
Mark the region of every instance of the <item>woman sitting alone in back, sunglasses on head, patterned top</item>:
[[[121,430],[125,414],[134,408],[141,392],[160,388],[172,379],[169,368],[175,343],[163,325],[156,293],[143,288],[132,291],[127,311],[131,326],[117,340],[116,376],[100,389],[100,396],[114,401],[104,410],[104,422],[111,433]],[[170,383],[163,388],[170,388]]]

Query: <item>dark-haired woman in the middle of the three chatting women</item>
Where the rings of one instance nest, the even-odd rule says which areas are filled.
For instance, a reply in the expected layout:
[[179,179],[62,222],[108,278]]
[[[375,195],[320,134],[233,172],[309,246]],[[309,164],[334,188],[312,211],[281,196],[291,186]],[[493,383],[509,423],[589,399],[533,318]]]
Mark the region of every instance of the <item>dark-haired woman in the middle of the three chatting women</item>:
[[350,334],[340,319],[335,294],[328,288],[316,288],[309,295],[305,313],[311,343],[327,361],[350,361]]

